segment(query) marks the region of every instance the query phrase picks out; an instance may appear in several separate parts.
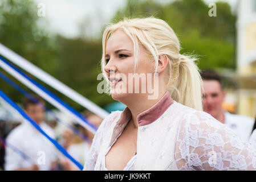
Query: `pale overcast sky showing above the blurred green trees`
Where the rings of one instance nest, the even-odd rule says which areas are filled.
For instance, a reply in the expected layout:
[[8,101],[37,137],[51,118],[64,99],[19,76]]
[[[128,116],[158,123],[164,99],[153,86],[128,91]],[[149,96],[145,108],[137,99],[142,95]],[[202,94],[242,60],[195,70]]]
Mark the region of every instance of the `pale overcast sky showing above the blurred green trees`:
[[[46,18],[49,29],[67,37],[79,34],[79,24],[86,22],[89,30],[87,34],[97,34],[101,26],[109,22],[117,9],[123,7],[126,0],[35,0],[46,5]],[[157,0],[162,3],[173,0]],[[205,0],[206,3],[217,0]],[[234,7],[237,0],[222,0]],[[89,20],[92,20],[88,22]]]

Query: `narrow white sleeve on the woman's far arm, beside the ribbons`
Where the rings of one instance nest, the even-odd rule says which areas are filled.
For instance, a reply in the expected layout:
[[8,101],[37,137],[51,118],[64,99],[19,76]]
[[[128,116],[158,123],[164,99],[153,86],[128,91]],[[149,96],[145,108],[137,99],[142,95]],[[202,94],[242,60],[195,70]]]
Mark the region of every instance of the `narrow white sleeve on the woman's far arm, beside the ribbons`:
[[84,171],[85,170],[87,170],[87,171],[94,170],[96,160],[97,160],[97,155],[99,154],[101,142],[102,142],[105,134],[107,133],[109,126],[111,126],[111,123],[116,119],[116,117],[119,114],[120,114],[119,111],[112,112],[100,124],[99,128],[96,131],[94,139],[92,140],[90,152],[86,156],[86,161],[84,163],[84,168],[83,168]]

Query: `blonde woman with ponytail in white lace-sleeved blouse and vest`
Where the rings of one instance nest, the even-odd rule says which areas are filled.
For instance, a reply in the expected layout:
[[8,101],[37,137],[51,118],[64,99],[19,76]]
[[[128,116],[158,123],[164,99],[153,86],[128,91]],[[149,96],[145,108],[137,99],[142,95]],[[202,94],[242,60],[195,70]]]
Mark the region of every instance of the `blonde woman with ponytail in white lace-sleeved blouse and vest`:
[[[164,20],[110,24],[103,34],[102,71],[113,100],[127,107],[101,123],[84,170],[254,170],[253,148],[201,111],[194,61],[180,55],[178,38]],[[131,74],[147,75],[139,93],[123,92],[136,85]],[[155,98],[151,90],[141,92],[150,82],[157,82]]]

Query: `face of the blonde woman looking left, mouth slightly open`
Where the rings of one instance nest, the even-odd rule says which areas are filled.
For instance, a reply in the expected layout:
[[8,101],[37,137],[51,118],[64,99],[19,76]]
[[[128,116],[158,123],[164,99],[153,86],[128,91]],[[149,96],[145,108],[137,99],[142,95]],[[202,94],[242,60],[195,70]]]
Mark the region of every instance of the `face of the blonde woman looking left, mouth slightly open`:
[[[105,72],[108,79],[111,81],[111,79],[115,78],[118,81],[111,83],[113,100],[125,101],[128,94],[129,96],[131,94],[134,96],[135,91],[138,91],[138,89],[139,93],[137,94],[143,93],[141,89],[145,89],[147,92],[145,88],[147,87],[147,73],[152,74],[155,71],[155,63],[149,59],[145,48],[139,46],[138,67],[136,67],[135,71],[138,75],[134,75],[136,78],[131,78],[135,65],[133,42],[123,30],[116,30],[107,40],[105,60],[107,64]],[[110,70],[113,70],[113,72]],[[139,78],[139,76],[145,77],[145,79]]]

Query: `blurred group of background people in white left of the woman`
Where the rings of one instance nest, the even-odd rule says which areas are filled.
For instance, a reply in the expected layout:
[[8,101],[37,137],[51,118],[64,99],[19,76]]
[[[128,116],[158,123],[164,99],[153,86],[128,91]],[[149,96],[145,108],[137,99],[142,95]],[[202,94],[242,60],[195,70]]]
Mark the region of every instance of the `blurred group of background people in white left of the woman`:
[[[30,98],[23,100],[25,113],[83,166],[94,134],[76,122],[63,127],[56,119],[46,120],[46,112],[43,109],[44,101],[36,94],[31,94],[31,97],[35,100]],[[85,110],[81,114],[96,128],[103,120],[89,110]],[[0,121],[0,130],[0,170],[80,170],[31,123],[27,121]]]

